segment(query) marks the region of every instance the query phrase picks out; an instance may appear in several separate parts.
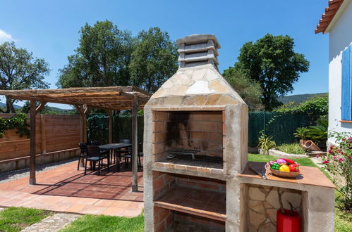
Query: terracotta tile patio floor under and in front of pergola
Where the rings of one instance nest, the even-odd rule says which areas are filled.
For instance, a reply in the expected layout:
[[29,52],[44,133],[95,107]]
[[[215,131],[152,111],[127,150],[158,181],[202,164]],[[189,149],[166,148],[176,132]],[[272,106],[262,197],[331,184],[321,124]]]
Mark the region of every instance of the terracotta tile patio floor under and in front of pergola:
[[[112,171],[112,172],[111,172]],[[138,172],[139,193],[131,192],[131,169],[101,172],[77,171],[77,162],[37,173],[37,185],[28,177],[0,183],[0,207],[33,207],[58,212],[135,217],[142,212],[142,172]]]

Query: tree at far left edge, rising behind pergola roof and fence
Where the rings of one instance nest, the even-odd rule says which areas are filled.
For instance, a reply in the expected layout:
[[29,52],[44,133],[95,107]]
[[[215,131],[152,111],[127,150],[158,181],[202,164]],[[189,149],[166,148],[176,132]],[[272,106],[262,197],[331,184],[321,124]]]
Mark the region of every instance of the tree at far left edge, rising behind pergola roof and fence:
[[[0,45],[1,90],[47,89],[49,84],[44,82],[44,77],[49,75],[49,71],[49,65],[44,59],[33,58],[32,53],[18,49],[14,42]],[[15,102],[6,96],[6,113],[16,112],[13,108]]]

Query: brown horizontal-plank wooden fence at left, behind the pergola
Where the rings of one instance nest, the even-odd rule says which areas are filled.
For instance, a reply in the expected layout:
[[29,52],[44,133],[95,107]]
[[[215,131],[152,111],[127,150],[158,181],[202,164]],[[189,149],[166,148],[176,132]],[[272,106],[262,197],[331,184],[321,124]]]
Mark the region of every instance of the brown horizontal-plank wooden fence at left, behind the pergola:
[[[0,114],[0,117],[13,117],[13,114]],[[80,115],[37,115],[36,125],[36,154],[78,148],[81,136]],[[20,138],[16,130],[6,131],[0,138],[0,161],[29,154],[30,139],[25,136]]]

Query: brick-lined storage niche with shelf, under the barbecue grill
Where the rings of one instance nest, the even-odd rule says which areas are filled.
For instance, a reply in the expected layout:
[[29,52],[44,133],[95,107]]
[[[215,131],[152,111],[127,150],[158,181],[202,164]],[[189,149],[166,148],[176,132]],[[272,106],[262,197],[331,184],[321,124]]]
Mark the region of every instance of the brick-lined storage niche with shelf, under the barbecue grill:
[[157,231],[225,230],[226,181],[153,172],[153,185]]

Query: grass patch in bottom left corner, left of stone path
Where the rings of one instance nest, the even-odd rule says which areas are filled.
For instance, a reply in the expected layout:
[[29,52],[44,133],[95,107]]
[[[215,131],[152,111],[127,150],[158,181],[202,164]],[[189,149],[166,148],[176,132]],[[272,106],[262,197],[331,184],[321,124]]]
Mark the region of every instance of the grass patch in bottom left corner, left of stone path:
[[21,231],[23,228],[42,221],[52,212],[47,210],[10,207],[0,212],[0,231]]

